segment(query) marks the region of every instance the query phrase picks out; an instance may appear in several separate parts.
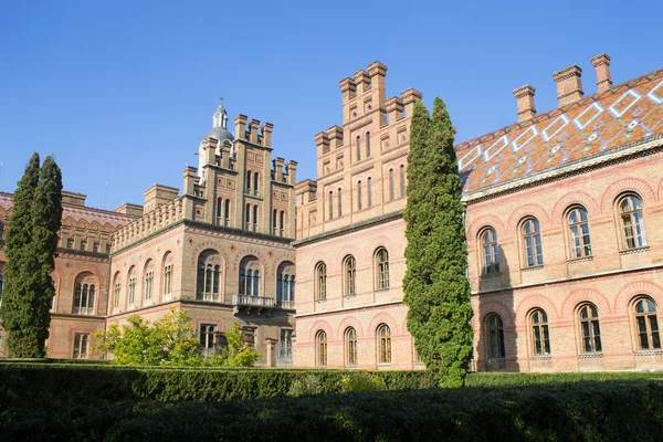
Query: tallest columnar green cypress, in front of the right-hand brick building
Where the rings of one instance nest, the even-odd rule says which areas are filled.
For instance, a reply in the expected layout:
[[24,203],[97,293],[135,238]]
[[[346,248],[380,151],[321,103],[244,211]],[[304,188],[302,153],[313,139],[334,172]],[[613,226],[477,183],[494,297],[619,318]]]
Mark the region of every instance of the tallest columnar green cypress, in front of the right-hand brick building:
[[462,182],[446,106],[436,97],[433,116],[414,103],[408,155],[408,203],[403,280],[408,329],[440,386],[460,387],[472,354],[472,305],[466,278]]

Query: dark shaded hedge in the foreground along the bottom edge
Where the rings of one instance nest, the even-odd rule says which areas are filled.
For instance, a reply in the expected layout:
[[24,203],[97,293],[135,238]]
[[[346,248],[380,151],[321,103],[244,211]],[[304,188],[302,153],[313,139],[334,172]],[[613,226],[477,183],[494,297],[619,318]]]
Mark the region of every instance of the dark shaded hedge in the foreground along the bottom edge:
[[629,380],[373,391],[239,402],[0,408],[12,440],[657,441],[663,383]]

